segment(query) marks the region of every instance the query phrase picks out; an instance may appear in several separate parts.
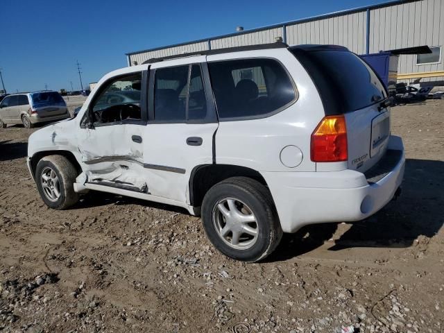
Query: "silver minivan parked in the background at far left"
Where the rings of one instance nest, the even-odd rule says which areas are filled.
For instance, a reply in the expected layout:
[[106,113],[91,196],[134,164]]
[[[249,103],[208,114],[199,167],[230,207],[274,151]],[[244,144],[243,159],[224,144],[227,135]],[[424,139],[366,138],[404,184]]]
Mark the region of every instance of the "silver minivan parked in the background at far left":
[[32,128],[36,123],[69,117],[67,104],[58,92],[29,92],[6,96],[0,103],[0,126],[23,123]]

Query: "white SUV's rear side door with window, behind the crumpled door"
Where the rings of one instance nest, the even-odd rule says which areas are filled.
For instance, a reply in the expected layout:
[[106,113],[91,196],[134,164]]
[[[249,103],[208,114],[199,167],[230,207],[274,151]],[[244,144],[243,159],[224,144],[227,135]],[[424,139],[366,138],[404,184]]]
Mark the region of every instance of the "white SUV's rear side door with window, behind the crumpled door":
[[151,194],[187,204],[191,172],[214,162],[213,138],[219,126],[205,56],[191,61],[151,65],[144,135]]

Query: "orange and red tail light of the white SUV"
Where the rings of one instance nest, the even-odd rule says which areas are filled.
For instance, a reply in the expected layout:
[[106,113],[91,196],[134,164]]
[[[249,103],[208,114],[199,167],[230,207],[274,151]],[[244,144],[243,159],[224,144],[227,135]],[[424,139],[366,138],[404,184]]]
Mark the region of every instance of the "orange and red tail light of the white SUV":
[[327,116],[311,134],[311,161],[341,162],[348,159],[345,117]]

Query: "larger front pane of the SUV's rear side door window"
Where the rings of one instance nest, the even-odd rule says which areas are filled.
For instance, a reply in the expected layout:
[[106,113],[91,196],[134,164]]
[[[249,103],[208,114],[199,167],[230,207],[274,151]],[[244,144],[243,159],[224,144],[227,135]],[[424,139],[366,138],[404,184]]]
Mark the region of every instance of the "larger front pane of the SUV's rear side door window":
[[156,69],[154,83],[154,119],[185,121],[189,66]]

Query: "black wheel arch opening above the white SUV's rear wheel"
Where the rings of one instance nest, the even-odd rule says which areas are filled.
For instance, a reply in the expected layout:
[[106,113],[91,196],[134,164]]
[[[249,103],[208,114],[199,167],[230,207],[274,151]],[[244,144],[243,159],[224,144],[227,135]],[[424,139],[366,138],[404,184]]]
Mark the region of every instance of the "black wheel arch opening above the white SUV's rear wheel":
[[235,164],[201,164],[194,167],[189,177],[189,201],[191,206],[199,207],[207,191],[218,182],[238,176],[252,178],[268,187],[264,177],[255,169]]

